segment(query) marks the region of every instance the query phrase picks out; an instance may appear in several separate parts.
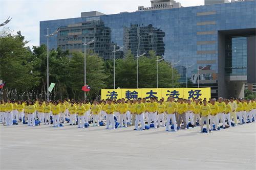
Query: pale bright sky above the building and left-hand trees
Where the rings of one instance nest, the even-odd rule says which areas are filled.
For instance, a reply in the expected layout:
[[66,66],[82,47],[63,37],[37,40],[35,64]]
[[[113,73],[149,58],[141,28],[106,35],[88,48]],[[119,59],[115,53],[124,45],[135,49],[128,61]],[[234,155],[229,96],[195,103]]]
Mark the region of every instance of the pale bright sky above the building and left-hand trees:
[[[199,6],[204,0],[177,0],[183,7]],[[6,25],[15,34],[21,31],[28,45],[39,45],[39,21],[80,17],[81,12],[99,11],[115,14],[134,12],[138,6],[150,7],[150,0],[0,0],[0,22],[9,16]],[[0,28],[0,31],[3,27]]]

